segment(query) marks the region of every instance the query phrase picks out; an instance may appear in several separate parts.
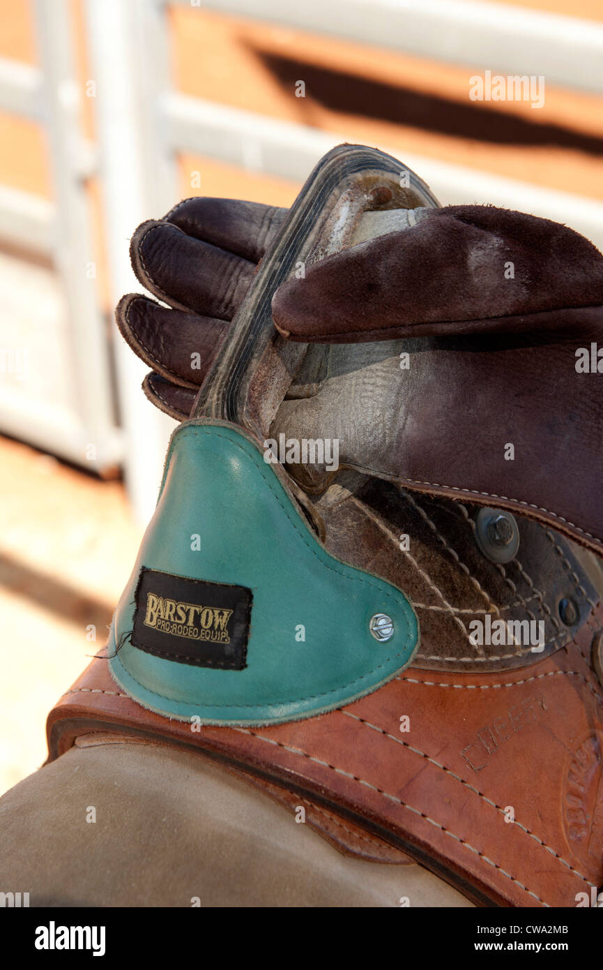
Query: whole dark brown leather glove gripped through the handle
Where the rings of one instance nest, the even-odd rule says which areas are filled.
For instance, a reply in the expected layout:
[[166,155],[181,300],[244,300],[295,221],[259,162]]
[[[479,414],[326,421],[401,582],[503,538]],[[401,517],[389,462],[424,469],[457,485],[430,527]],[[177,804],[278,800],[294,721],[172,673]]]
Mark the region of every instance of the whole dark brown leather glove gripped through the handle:
[[[169,306],[130,295],[117,321],[153,368],[145,393],[173,416],[190,413],[285,214],[190,199],[135,233],[135,272]],[[493,207],[400,210],[400,225],[275,294],[279,333],[311,342],[270,436],[338,439],[341,465],[516,509],[601,554],[603,257],[565,226]],[[324,485],[324,469],[290,470]]]

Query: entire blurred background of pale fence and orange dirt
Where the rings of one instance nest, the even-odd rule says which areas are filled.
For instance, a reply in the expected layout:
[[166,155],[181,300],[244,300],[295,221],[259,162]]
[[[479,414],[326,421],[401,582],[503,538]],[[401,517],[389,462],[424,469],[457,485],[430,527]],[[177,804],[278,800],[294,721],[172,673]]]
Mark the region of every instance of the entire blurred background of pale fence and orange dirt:
[[[350,141],[601,247],[602,65],[600,0],[0,0],[0,792],[105,641],[175,426],[112,321],[136,225],[289,206]],[[486,71],[544,105],[471,100]]]

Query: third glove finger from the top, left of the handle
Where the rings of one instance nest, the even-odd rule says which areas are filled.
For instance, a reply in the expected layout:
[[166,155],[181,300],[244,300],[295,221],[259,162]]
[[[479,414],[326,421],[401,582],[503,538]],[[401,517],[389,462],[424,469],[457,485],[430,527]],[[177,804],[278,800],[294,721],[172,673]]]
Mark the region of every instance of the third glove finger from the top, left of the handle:
[[126,343],[153,371],[181,387],[198,388],[225,338],[228,320],[161,307],[129,293],[115,308]]

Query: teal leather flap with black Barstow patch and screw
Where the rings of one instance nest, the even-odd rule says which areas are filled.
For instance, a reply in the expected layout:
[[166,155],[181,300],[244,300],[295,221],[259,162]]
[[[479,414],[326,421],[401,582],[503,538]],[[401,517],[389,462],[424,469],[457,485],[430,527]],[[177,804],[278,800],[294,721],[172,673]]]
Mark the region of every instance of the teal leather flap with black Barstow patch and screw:
[[374,691],[418,636],[404,595],[326,551],[250,437],[203,420],[176,429],[111,625],[111,673],[129,695],[203,724],[294,721]]

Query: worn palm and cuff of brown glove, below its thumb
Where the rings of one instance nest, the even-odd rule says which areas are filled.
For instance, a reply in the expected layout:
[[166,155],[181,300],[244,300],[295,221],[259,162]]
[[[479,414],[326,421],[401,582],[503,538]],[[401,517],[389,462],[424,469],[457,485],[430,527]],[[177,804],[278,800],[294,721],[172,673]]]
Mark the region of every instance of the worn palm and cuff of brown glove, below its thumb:
[[[364,356],[333,346],[310,393],[283,402],[270,436],[336,437],[341,465],[516,510],[600,555],[602,376],[576,372],[575,354],[601,320],[585,308],[565,313],[568,329],[555,337],[426,337],[365,344]],[[291,471],[313,487],[325,480],[324,469]]]

